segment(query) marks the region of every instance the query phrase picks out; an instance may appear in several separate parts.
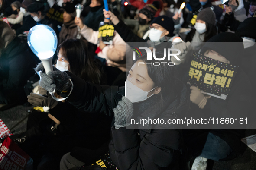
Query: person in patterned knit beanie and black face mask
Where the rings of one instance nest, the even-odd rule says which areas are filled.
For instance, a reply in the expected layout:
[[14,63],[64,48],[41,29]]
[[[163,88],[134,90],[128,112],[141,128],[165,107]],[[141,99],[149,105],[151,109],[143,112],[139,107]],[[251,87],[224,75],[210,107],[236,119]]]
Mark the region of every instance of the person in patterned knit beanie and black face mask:
[[139,30],[137,31],[139,37],[143,37],[146,31],[149,30],[150,22],[154,19],[158,8],[159,1],[154,1],[153,4],[147,4],[139,10]]

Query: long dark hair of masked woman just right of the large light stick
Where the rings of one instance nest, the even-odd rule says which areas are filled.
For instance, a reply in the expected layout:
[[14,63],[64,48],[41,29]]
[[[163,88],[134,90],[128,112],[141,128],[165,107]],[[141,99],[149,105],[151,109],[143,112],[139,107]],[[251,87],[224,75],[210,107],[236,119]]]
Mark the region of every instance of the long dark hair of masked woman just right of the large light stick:
[[58,46],[62,56],[68,60],[72,74],[94,84],[101,84],[103,75],[93,58],[88,56],[83,40],[67,39]]

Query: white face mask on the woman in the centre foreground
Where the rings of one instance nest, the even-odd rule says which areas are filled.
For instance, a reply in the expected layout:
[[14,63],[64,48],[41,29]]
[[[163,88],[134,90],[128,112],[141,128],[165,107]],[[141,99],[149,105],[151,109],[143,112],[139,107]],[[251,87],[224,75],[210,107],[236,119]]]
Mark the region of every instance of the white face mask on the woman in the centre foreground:
[[[152,90],[154,90],[155,88],[153,88]],[[128,98],[132,103],[145,101],[146,99],[150,98],[152,95],[154,95],[152,94],[151,96],[147,97],[150,91],[143,91],[136,85],[133,85],[133,83],[131,83],[129,80],[125,81],[125,97]]]

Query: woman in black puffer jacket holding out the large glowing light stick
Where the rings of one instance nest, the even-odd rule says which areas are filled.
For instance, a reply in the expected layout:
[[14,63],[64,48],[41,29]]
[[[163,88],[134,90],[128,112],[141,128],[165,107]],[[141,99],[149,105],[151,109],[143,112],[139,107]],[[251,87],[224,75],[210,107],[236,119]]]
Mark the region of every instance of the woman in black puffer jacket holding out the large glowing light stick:
[[[162,56],[163,53],[159,52],[158,55]],[[59,70],[49,72],[49,75],[41,73],[42,77],[46,76],[46,79],[59,82],[57,86],[47,83],[46,79],[41,79],[40,85],[47,91],[58,89],[57,93],[68,97],[66,100],[77,108],[114,118],[109,155],[118,169],[137,170],[143,167],[146,170],[175,170],[178,168],[182,147],[181,130],[177,129],[180,126],[149,123],[147,126],[141,125],[142,129],[129,129],[134,126],[130,119],[169,119],[175,117],[172,114],[174,112],[176,115],[185,114],[189,108],[188,91],[185,85],[175,78],[171,66],[138,65],[138,62],[146,62],[146,55],[143,56],[138,57],[130,69],[125,89],[94,85]],[[153,59],[152,62],[156,60]],[[60,79],[60,76],[58,78],[57,75],[62,75],[64,79]],[[83,164],[89,164],[91,167],[91,162],[88,161],[99,160],[100,155],[94,157],[97,156],[95,152],[94,155],[88,153],[84,152],[80,157],[66,154],[62,157],[61,169],[68,170]],[[107,154],[107,150],[105,153]],[[90,157],[90,160],[83,159],[85,157]]]

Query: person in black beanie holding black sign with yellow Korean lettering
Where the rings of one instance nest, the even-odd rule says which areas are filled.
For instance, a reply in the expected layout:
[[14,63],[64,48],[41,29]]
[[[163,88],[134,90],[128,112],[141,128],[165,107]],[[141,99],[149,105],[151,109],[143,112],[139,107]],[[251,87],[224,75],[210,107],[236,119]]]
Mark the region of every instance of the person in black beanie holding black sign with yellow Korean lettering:
[[[240,66],[243,59],[243,39],[234,33],[224,32],[213,36],[201,48],[200,54],[212,60]],[[189,82],[188,68],[182,78]],[[214,72],[215,73],[215,72]],[[215,73],[217,74],[217,73]],[[204,75],[202,75],[204,76]],[[241,117],[252,114],[252,86],[243,69],[238,67],[226,100],[201,93],[190,86],[189,117]],[[187,117],[188,117],[187,115]],[[192,157],[196,157],[191,170],[206,170],[207,159],[222,161],[237,157],[241,152],[242,135],[245,129],[185,129],[183,132],[185,145]]]

